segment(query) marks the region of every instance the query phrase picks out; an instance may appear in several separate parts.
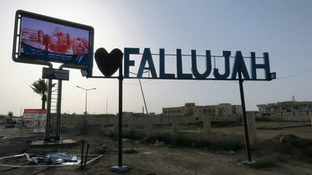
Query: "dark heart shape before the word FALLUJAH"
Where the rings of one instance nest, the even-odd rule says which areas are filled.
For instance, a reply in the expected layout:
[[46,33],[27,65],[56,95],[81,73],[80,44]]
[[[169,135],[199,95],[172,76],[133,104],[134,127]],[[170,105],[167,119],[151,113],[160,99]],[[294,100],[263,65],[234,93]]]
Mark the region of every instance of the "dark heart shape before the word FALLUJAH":
[[96,64],[105,77],[111,77],[122,64],[123,53],[118,48],[107,53],[105,48],[98,48],[94,54]]

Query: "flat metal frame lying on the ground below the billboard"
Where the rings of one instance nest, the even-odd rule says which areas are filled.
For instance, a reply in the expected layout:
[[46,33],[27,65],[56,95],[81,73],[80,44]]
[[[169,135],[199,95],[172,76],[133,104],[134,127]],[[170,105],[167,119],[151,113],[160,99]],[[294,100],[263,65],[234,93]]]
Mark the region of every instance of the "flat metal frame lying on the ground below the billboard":
[[[74,156],[78,156],[80,154],[73,154]],[[25,154],[18,154],[14,156],[6,156],[3,158],[0,158],[0,160],[6,159],[6,158],[12,158],[12,157],[21,157],[25,156]],[[88,165],[89,163],[92,163],[94,160],[97,160],[98,158],[101,158],[103,155],[101,154],[88,154],[88,156],[96,156],[96,158],[93,158],[92,160],[89,160],[85,165]],[[0,164],[0,166],[3,167],[63,167],[63,166],[80,166],[80,164],[73,164],[73,165],[26,165],[26,166],[19,166],[19,165],[6,165],[6,164]]]

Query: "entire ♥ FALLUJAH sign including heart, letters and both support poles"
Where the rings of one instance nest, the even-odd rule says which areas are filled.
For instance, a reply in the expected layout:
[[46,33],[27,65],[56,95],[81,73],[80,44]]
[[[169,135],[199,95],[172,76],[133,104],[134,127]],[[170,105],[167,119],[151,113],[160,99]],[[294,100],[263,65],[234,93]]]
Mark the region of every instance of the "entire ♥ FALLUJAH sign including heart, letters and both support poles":
[[[123,59],[124,55],[124,59]],[[132,73],[137,75],[136,77],[130,77],[130,66],[135,66],[135,60],[130,59],[130,55],[142,55],[141,62],[139,64],[139,69],[137,73]],[[159,55],[159,68],[158,73],[155,67],[155,60],[152,55]],[[126,166],[122,165],[122,99],[123,99],[123,78],[149,78],[149,79],[171,79],[171,80],[239,80],[239,89],[241,93],[241,106],[243,111],[243,122],[245,130],[245,146],[248,156],[248,162],[251,162],[250,154],[250,143],[248,136],[248,126],[245,111],[245,98],[243,93],[243,81],[244,80],[254,80],[254,81],[270,81],[276,78],[276,73],[270,73],[270,63],[268,53],[263,53],[263,57],[258,57],[263,59],[262,64],[257,64],[256,56],[254,52],[250,53],[250,73],[248,73],[248,68],[245,64],[244,57],[241,51],[236,51],[234,56],[234,63],[232,65],[232,71],[230,71],[229,57],[231,56],[231,51],[223,51],[222,56],[211,56],[210,50],[206,50],[205,55],[205,66],[206,69],[203,73],[198,71],[196,50],[191,50],[191,55],[182,55],[181,49],[177,49],[175,55],[176,62],[176,73],[166,73],[165,72],[165,52],[164,48],[159,49],[159,54],[152,54],[150,48],[145,48],[144,53],[139,53],[139,48],[124,48],[124,53],[121,50],[115,48],[111,53],[108,53],[105,48],[98,48],[94,55],[96,59],[96,64],[99,70],[103,73],[105,77],[110,78],[119,69],[119,149],[118,149],[118,166],[112,167],[113,169],[119,169],[119,171],[124,171],[127,169]],[[182,70],[182,56],[191,56],[191,72],[183,73]],[[220,69],[216,67],[216,60],[214,60],[214,69],[212,75],[214,77],[209,77],[212,71],[211,57],[222,57],[224,59],[224,73],[220,73]],[[246,57],[245,57],[246,58]],[[122,59],[124,63],[122,62]],[[124,65],[124,69],[123,69]],[[146,66],[147,65],[147,66]],[[262,69],[264,71],[264,77],[257,77],[257,70]],[[150,71],[152,77],[143,77],[143,73]],[[123,75],[124,74],[124,75]],[[237,78],[237,75],[239,78]]]

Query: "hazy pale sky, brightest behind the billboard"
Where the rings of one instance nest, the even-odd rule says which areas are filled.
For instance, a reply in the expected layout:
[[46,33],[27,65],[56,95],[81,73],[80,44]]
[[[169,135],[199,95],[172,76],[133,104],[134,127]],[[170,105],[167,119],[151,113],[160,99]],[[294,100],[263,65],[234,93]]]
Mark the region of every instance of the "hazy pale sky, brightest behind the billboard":
[[[268,52],[271,72],[277,72],[277,77],[295,76],[244,82],[247,110],[257,110],[257,104],[289,101],[292,95],[297,101],[312,101],[312,71],[308,71],[312,68],[312,1],[3,1],[1,114],[13,111],[19,116],[21,109],[41,107],[40,95],[29,85],[42,76],[42,66],[12,61],[15,12],[19,9],[93,26],[94,51],[134,47],[140,48],[140,53],[144,48],[152,53],[165,48],[173,54],[177,48],[182,54],[194,49],[201,55],[205,50],[211,50],[211,55],[222,55],[223,50],[231,50],[232,55],[241,50],[243,56],[251,51],[257,56]],[[153,59],[158,62],[159,57]],[[183,68],[191,70],[188,63]],[[175,69],[175,64],[166,67],[168,73]],[[101,75],[95,62],[93,70],[94,75]],[[149,112],[161,113],[162,107],[180,107],[185,102],[241,104],[238,82],[141,81]],[[124,83],[123,111],[141,112],[144,102],[138,80]],[[86,79],[76,69],[71,69],[69,81],[63,82],[62,113],[85,111],[85,91],[76,86],[96,88],[88,92],[88,113],[106,113],[106,98],[108,113],[117,113],[118,82]]]

